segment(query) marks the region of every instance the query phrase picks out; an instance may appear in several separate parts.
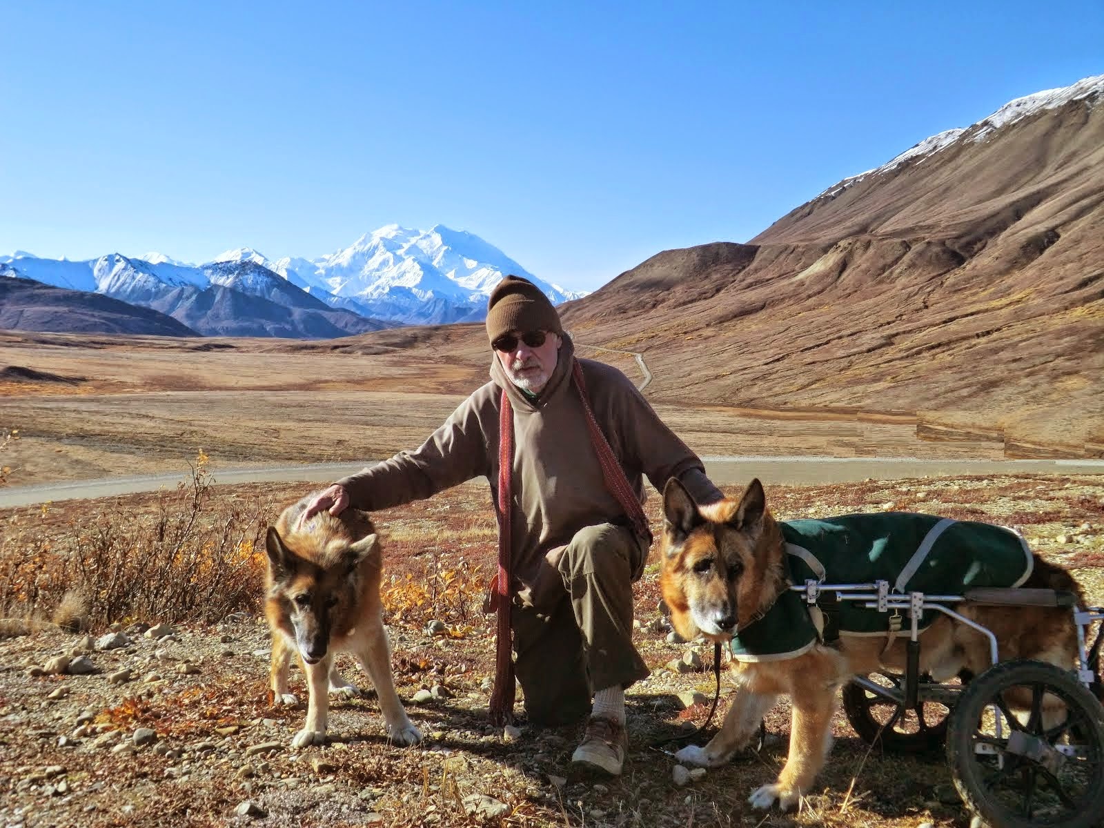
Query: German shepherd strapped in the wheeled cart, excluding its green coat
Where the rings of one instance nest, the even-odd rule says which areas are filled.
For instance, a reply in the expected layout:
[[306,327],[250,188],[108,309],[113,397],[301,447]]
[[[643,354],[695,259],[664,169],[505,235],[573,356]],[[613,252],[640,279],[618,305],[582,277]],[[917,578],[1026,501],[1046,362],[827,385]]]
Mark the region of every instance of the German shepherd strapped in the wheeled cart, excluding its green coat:
[[[846,517],[861,523],[887,519],[888,514]],[[1016,585],[1066,590],[1083,605],[1072,576],[1031,553],[1018,535],[988,524],[972,526],[1006,533],[1013,543],[1022,544],[1019,554],[1026,556],[1025,573]],[[739,641],[741,631],[755,629],[776,603],[789,601],[787,593],[804,607],[800,612],[809,615],[804,597],[788,588],[786,542],[766,508],[757,479],[752,480],[740,500],[699,507],[682,484],[672,478],[664,489],[660,550],[662,596],[675,628],[687,640],[701,633],[713,641]],[[959,604],[956,612],[996,635],[1001,660],[1033,658],[1062,668],[1075,664],[1076,631],[1068,608]],[[811,625],[810,629],[815,630]],[[720,732],[704,747],[683,747],[676,757],[702,767],[726,763],[758,732],[761,720],[776,698],[787,694],[793,702],[793,722],[786,764],[777,779],[755,789],[749,802],[764,809],[775,803],[784,810],[793,807],[810,788],[831,747],[837,690],[853,676],[879,667],[903,671],[909,637],[907,628],[900,636],[841,631],[839,640],[829,646],[813,631],[807,643],[785,644],[782,656],[737,660],[741,656],[735,655],[732,669],[736,690]],[[737,652],[735,647],[733,652]],[[962,670],[976,675],[989,665],[988,639],[960,622],[937,615],[921,636],[920,669],[936,681],[945,681]],[[1008,701],[1013,708],[1030,707],[1030,699]],[[1064,714],[1064,708],[1048,709],[1044,702],[1044,720],[1061,722]]]

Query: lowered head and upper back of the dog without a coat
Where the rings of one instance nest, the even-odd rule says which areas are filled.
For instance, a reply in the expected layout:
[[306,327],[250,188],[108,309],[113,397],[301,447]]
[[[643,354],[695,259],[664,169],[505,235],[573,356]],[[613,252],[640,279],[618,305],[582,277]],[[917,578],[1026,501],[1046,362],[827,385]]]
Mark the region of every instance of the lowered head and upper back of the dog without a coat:
[[276,617],[290,624],[304,660],[317,664],[329,650],[335,619],[357,604],[365,567],[379,569],[380,553],[371,520],[357,509],[337,517],[322,511],[300,524],[311,497],[268,527],[265,550],[267,601]]

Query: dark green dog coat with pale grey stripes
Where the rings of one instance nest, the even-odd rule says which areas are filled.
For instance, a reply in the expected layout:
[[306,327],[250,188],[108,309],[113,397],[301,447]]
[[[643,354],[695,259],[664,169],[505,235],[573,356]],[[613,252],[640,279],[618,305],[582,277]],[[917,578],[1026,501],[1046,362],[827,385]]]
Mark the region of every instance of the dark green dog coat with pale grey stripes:
[[[778,527],[789,580],[797,585],[810,580],[835,585],[887,581],[891,594],[962,595],[979,586],[1020,586],[1033,565],[1023,538],[991,523],[879,512]],[[832,622],[838,620],[841,635],[889,635],[890,614],[861,604],[839,601],[819,609],[836,615]],[[730,645],[733,658],[775,661],[808,651],[821,639],[810,608],[802,593],[787,588],[763,617],[736,631]],[[921,629],[936,615],[934,609],[924,613]]]

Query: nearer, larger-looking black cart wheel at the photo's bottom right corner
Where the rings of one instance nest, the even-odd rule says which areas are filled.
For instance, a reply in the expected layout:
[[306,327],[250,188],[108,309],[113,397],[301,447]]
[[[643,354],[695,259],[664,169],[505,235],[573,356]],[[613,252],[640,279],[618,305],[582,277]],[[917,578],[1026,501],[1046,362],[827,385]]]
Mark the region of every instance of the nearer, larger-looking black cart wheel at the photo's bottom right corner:
[[[1011,715],[1004,700],[1015,687],[1032,692],[1033,712],[1027,724]],[[1065,721],[1047,732],[1038,715],[1043,694],[1058,697],[1066,707]],[[1000,740],[990,732],[994,703],[1002,711]],[[1008,736],[1016,730],[1040,746],[1075,744],[1082,755],[1066,757],[1051,773],[1039,762],[1007,750]],[[975,745],[983,743],[996,753],[978,754]],[[963,800],[991,825],[1092,828],[1104,817],[1104,707],[1073,672],[1054,665],[1005,661],[974,679],[951,714],[947,762]]]

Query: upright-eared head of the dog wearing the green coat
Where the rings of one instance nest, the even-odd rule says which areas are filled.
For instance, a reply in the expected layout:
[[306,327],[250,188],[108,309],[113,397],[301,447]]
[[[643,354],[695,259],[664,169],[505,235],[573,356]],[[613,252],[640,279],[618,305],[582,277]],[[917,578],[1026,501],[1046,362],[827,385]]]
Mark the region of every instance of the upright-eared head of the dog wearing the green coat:
[[704,507],[668,480],[660,550],[664,601],[686,639],[728,640],[785,588],[782,534],[757,479],[740,500]]

